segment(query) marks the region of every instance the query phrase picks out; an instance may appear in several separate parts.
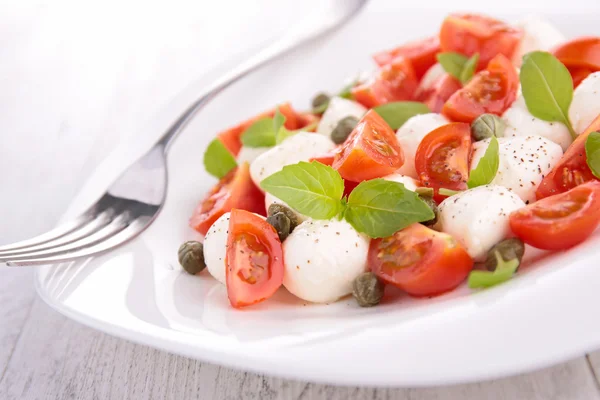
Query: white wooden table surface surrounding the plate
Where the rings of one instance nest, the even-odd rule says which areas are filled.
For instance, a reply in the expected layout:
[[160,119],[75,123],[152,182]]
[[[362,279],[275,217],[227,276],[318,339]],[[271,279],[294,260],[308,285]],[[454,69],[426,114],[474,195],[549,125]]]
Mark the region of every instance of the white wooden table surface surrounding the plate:
[[[290,2],[276,0],[82,3],[0,2],[0,243],[51,227],[120,137],[292,15]],[[427,389],[332,387],[220,368],[70,321],[37,299],[32,276],[0,269],[3,400],[600,399],[600,352]]]

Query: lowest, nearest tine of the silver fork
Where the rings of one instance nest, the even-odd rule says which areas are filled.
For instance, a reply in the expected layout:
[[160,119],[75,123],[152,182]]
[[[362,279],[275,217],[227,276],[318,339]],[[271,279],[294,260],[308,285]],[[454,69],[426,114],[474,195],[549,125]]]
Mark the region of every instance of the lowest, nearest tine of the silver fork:
[[[80,257],[90,257],[94,255],[98,255],[101,253],[105,253],[109,250],[112,250],[115,247],[123,245],[134,237],[137,236],[137,233],[140,232],[141,228],[143,228],[149,221],[149,217],[140,217],[129,224],[125,229],[118,232],[116,235],[107,238],[104,241],[97,243],[96,246],[85,247],[76,251],[66,252],[64,254],[53,254],[47,257],[40,258],[20,258],[17,260],[7,261],[6,264],[9,267],[23,267],[30,265],[44,265],[44,264],[56,264],[61,262],[72,261],[78,259]],[[0,263],[3,261],[0,260]]]

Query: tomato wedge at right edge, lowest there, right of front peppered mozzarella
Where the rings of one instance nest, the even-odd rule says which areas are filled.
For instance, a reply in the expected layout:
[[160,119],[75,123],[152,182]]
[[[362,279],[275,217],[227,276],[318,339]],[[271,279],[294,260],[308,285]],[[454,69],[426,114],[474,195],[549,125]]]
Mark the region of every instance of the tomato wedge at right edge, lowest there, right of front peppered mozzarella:
[[583,242],[600,223],[600,182],[546,197],[510,214],[510,228],[523,242],[564,250]]

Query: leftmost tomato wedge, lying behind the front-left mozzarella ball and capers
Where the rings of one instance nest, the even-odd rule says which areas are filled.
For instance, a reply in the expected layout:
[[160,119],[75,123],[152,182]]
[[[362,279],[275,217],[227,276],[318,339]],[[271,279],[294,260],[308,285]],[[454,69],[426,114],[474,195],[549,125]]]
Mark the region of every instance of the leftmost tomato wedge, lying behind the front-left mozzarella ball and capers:
[[190,226],[206,235],[211,225],[232,208],[266,214],[265,195],[250,179],[248,163],[229,172],[207,193],[194,211]]

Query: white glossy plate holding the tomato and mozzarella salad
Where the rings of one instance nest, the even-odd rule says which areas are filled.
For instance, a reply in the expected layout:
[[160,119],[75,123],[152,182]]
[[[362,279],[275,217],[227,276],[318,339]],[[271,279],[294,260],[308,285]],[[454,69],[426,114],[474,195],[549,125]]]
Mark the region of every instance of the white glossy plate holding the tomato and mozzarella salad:
[[[352,299],[305,304],[281,290],[259,306],[234,310],[219,283],[179,270],[177,248],[193,236],[187,219],[214,183],[201,163],[208,140],[219,129],[278,101],[289,99],[301,107],[314,91],[340,87],[345,77],[371,65],[369,55],[375,50],[435,32],[447,11],[401,10],[393,4],[400,3],[370,5],[335,35],[216,99],[172,149],[168,201],[152,227],[107,256],[41,268],[36,279],[40,296],[77,321],[134,342],[226,366],[335,384],[417,386],[480,380],[540,368],[600,347],[599,235],[485,292],[463,287],[434,299],[399,296],[373,309],[361,309]],[[555,18],[550,18],[571,36],[597,34],[597,12],[588,9],[586,14],[576,5],[555,7]],[[497,11],[482,4],[469,8]],[[137,135],[136,145],[124,143],[115,151],[68,215],[93,200],[125,160],[143,150],[140,138],[150,143],[197,93],[197,86],[190,86]]]

